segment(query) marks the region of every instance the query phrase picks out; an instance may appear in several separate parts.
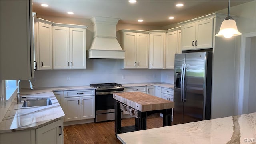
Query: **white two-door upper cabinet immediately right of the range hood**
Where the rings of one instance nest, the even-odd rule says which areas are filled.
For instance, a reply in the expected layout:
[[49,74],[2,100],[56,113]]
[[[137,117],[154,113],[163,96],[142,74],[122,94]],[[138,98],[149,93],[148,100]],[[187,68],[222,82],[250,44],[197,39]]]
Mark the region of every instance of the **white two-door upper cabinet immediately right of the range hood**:
[[125,50],[123,68],[148,68],[149,34],[127,31],[120,31],[120,43]]

